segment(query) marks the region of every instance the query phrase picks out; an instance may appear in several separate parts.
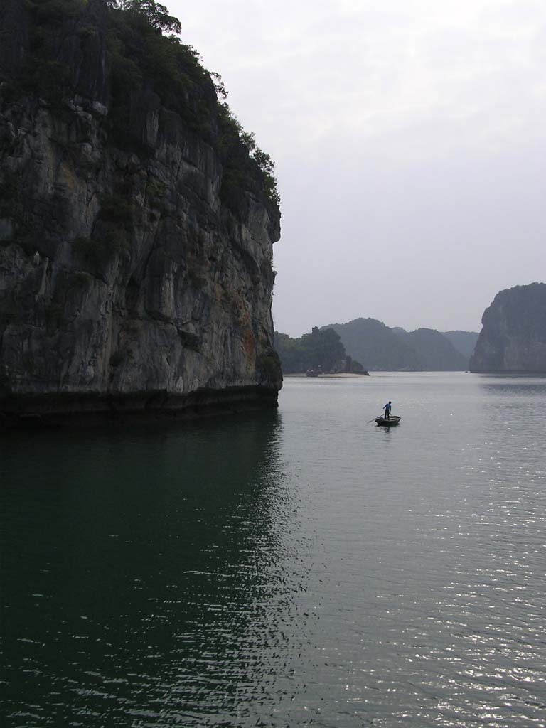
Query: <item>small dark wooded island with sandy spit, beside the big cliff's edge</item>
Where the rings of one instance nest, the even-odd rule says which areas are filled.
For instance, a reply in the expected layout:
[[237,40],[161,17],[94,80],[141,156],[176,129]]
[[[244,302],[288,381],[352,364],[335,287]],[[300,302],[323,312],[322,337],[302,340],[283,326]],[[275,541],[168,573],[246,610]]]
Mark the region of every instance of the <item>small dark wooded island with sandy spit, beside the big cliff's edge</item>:
[[284,374],[368,373],[360,362],[347,354],[339,334],[331,328],[314,326],[311,333],[304,333],[298,339],[275,331],[274,345]]

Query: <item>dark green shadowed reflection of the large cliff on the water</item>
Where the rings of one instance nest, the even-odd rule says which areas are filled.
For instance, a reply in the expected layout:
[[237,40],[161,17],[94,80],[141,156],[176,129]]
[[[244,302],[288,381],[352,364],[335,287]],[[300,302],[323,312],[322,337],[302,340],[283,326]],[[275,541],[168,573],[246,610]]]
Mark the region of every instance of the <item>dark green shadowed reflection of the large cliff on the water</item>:
[[286,569],[298,513],[279,430],[268,412],[4,439],[8,715],[244,721],[237,705],[297,649],[283,622],[304,575]]

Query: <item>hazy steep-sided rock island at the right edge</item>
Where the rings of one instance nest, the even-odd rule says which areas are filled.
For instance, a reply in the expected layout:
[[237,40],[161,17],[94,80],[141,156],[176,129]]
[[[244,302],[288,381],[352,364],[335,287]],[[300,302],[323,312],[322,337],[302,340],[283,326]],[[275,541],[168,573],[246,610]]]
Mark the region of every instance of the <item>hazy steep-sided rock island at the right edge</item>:
[[546,284],[497,293],[482,317],[473,372],[546,372]]

